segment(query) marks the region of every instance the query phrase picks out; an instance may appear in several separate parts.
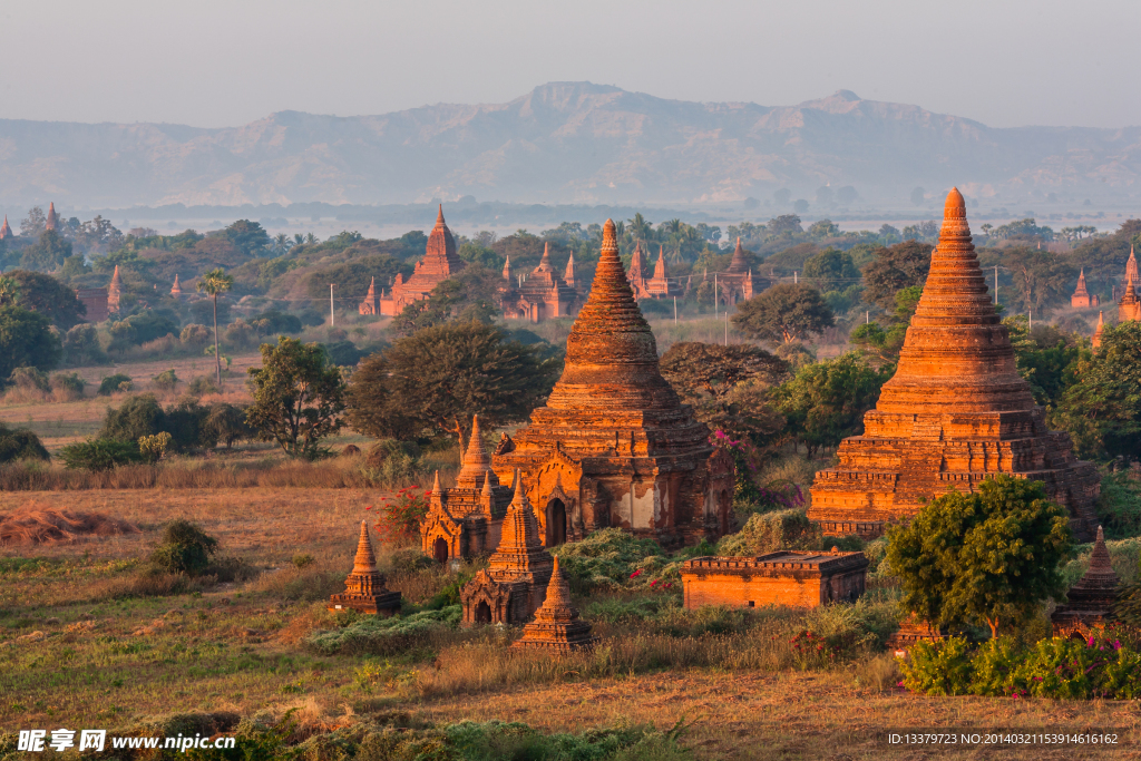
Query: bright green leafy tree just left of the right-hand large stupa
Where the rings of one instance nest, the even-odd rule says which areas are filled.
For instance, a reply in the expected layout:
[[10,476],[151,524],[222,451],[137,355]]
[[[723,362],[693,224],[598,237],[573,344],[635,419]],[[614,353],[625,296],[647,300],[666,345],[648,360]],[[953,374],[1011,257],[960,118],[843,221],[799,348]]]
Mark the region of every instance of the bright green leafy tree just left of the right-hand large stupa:
[[772,404],[788,421],[788,432],[808,445],[839,446],[864,428],[889,370],[875,370],[855,351],[801,367],[772,391]]

